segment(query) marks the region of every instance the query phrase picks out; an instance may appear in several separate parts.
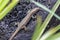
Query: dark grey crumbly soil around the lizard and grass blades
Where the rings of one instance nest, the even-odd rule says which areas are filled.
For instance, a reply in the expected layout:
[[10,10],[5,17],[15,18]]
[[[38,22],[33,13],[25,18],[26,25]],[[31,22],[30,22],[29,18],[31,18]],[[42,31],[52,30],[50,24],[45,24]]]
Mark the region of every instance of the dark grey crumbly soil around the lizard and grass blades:
[[[51,9],[57,0],[36,1]],[[35,7],[37,6],[33,3],[27,2],[26,0],[20,0],[19,3],[11,10],[11,12],[8,13],[7,16],[0,21],[0,40],[8,40],[17,28],[17,25],[15,23],[20,22],[27,15],[27,11]],[[56,13],[60,15],[60,6],[57,9]],[[48,12],[40,8],[40,11],[38,11],[37,14],[42,16],[42,19],[44,21],[48,15]],[[53,26],[57,26],[58,24],[60,24],[60,21],[57,18],[53,17],[48,24],[46,31]],[[27,25],[28,31],[19,31],[13,40],[31,40],[35,26],[36,20],[33,20],[31,18],[29,24]]]

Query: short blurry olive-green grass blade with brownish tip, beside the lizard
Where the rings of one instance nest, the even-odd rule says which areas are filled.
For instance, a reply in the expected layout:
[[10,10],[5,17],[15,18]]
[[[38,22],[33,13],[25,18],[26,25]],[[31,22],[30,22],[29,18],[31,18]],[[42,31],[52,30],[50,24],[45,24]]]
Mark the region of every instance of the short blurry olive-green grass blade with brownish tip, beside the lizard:
[[42,24],[42,17],[37,15],[37,24],[36,24],[36,27],[35,27],[34,34],[32,36],[32,40],[35,40],[36,37],[38,37],[38,34],[39,34],[38,30],[39,30],[41,24]]

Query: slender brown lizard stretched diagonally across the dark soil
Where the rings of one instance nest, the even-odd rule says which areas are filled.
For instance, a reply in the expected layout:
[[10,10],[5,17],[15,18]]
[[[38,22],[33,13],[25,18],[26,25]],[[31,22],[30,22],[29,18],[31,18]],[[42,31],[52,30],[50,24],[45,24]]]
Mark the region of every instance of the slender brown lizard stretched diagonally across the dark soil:
[[12,34],[12,36],[9,38],[9,40],[12,40],[21,28],[26,28],[26,25],[29,22],[29,20],[31,19],[31,16],[33,14],[35,14],[39,9],[40,8],[37,7],[37,8],[32,9],[30,12],[28,12],[26,17],[23,18],[23,20],[18,24],[18,27],[17,27],[16,31]]

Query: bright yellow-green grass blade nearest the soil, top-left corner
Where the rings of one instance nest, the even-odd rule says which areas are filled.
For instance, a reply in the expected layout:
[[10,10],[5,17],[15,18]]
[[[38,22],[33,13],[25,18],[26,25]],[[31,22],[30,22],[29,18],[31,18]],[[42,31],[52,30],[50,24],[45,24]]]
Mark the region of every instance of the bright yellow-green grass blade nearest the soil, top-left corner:
[[12,1],[1,13],[0,13],[0,20],[2,20],[2,18],[4,16],[6,16],[6,14],[8,12],[11,11],[11,9],[19,2],[19,0],[14,0]]

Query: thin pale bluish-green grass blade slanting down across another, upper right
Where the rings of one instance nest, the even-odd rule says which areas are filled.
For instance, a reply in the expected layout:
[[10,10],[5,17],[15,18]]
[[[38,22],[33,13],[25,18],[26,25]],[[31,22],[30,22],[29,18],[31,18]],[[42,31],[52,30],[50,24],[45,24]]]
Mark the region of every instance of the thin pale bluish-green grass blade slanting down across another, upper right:
[[[49,10],[46,6],[42,5],[41,3],[35,2],[34,0],[30,0],[32,3],[36,4],[37,6],[43,8],[44,10],[48,11],[49,13],[53,14],[54,12]],[[58,4],[60,4],[60,0],[58,2]],[[56,7],[56,6],[55,6]],[[60,20],[60,16],[58,16],[57,14],[54,14],[54,16]]]

